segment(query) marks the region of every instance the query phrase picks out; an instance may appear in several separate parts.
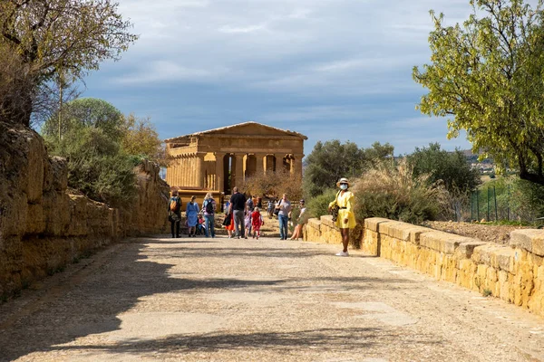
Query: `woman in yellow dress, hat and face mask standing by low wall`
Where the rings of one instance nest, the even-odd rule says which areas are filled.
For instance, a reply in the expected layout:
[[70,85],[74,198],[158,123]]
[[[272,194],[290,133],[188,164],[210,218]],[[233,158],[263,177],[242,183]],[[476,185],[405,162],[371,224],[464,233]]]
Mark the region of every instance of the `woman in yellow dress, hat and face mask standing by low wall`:
[[336,194],[336,199],[329,204],[329,211],[333,206],[338,205],[338,216],[336,218],[336,227],[340,229],[342,234],[342,245],[344,249],[338,252],[336,256],[349,256],[347,252],[347,244],[349,243],[349,229],[355,227],[354,201],[355,196],[351,191],[348,191],[349,180],[345,177],[340,178],[336,183],[340,187],[340,191]]

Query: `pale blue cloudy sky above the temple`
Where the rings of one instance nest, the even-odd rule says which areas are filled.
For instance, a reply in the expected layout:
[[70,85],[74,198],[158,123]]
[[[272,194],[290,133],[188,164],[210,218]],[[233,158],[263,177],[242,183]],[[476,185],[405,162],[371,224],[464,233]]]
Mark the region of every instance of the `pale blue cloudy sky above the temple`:
[[469,0],[118,1],[140,39],[82,97],[150,117],[160,138],[252,120],[306,135],[306,155],[332,139],[471,148],[415,110],[427,91],[412,79],[430,62],[429,10],[461,23]]

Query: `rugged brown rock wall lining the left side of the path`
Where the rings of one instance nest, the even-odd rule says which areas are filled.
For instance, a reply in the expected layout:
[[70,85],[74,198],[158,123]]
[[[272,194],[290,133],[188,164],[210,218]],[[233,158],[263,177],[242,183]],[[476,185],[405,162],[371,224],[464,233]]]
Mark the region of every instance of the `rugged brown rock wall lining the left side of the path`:
[[0,120],[0,297],[124,236],[163,233],[170,188],[151,162],[135,172],[130,209],[70,195],[64,159],[48,157],[34,130]]

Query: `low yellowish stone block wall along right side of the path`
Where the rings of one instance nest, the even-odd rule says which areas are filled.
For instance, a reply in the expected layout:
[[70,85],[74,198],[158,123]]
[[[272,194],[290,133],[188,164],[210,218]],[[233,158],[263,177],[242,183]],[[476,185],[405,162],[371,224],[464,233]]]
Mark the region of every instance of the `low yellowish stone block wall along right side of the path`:
[[[325,216],[330,217],[330,216]],[[334,225],[332,226],[334,227]],[[338,230],[335,230],[339,234]],[[361,248],[442,281],[492,295],[544,316],[544,231],[510,233],[510,245],[384,218],[364,220]],[[310,219],[305,240],[340,243],[331,225]]]

